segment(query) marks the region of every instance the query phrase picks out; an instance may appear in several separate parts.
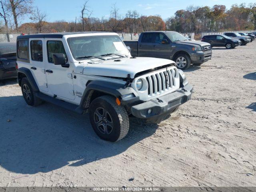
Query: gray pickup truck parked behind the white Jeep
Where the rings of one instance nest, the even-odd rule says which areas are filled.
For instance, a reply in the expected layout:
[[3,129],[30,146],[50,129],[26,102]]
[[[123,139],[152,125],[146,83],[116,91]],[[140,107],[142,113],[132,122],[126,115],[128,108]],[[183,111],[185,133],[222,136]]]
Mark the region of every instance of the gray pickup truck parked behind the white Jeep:
[[190,64],[201,65],[212,58],[209,43],[189,41],[174,31],[142,32],[138,41],[124,41],[134,57],[156,57],[176,62],[184,70]]

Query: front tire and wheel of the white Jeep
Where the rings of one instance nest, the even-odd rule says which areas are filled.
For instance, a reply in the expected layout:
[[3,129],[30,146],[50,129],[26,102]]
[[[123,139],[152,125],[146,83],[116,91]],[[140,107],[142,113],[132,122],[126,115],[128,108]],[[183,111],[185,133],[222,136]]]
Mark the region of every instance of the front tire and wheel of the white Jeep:
[[103,140],[116,142],[128,133],[129,117],[126,109],[118,106],[112,96],[94,99],[90,104],[89,114],[92,128]]

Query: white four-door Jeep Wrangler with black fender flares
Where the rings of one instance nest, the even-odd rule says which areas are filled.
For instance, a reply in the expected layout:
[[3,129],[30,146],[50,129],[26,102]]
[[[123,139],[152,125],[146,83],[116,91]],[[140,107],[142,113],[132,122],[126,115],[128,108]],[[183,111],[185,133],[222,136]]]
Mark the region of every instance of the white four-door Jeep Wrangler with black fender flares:
[[111,32],[18,36],[16,67],[27,104],[89,112],[96,134],[111,142],[126,136],[129,117],[158,123],[192,92],[175,62],[131,57]]

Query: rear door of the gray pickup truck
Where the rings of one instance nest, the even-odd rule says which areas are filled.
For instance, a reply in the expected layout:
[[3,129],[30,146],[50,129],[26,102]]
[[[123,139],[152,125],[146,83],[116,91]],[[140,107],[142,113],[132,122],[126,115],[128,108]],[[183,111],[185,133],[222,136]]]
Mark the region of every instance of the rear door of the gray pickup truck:
[[138,54],[140,57],[153,57],[154,55],[154,44],[155,44],[154,33],[142,33],[142,38],[138,42]]

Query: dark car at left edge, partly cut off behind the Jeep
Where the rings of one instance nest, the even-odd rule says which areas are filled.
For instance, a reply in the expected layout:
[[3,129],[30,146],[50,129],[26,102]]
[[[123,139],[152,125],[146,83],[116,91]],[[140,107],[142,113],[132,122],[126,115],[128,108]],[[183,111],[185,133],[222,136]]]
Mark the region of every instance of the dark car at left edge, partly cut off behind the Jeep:
[[16,77],[16,43],[0,43],[0,80]]

